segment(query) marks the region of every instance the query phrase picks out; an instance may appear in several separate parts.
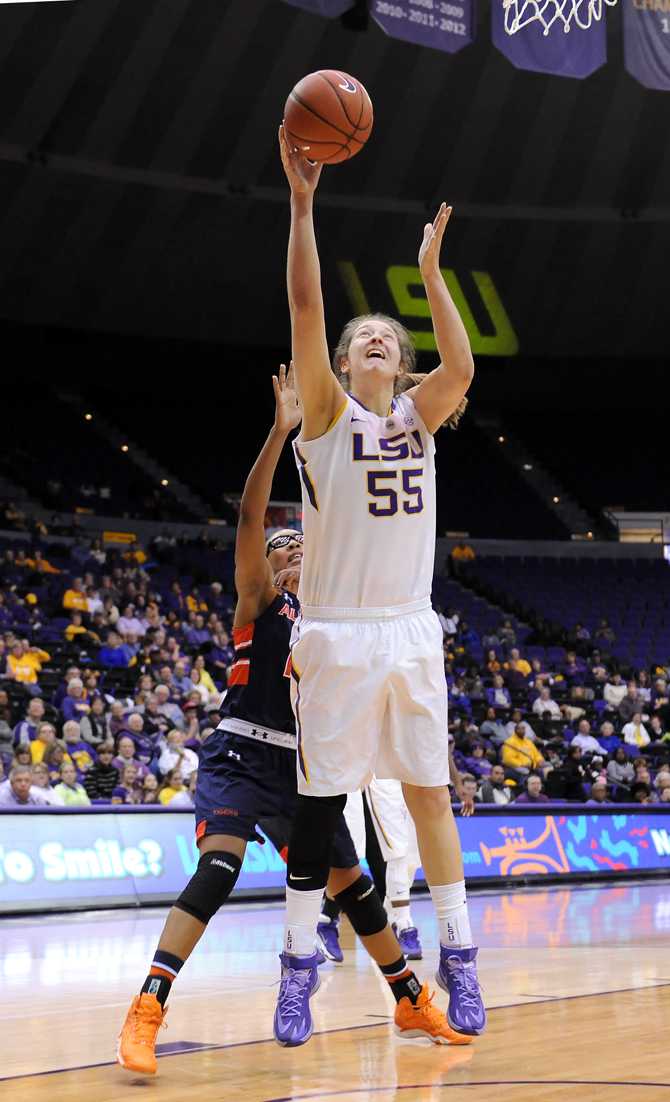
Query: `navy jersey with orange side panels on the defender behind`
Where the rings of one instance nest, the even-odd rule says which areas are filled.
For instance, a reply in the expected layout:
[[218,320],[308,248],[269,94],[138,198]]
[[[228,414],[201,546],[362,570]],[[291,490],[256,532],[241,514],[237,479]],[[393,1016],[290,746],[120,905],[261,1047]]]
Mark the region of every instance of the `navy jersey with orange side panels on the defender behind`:
[[235,665],[219,709],[272,731],[295,733],[290,695],[291,628],[300,612],[292,593],[280,593],[251,624],[233,628]]

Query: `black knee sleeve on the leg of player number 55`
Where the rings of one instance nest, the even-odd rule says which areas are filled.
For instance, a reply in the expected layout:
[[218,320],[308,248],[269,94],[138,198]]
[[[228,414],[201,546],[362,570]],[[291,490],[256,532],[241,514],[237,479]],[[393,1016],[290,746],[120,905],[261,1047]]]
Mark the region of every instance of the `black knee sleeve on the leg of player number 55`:
[[299,892],[324,888],[333,838],[346,796],[299,796],[289,842],[287,884]]

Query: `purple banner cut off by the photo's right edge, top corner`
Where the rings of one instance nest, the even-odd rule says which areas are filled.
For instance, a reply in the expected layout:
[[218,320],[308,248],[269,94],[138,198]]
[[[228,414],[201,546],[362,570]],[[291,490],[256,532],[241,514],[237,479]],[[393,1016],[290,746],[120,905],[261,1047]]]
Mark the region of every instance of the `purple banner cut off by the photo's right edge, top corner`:
[[622,0],[624,61],[645,88],[670,90],[670,0]]

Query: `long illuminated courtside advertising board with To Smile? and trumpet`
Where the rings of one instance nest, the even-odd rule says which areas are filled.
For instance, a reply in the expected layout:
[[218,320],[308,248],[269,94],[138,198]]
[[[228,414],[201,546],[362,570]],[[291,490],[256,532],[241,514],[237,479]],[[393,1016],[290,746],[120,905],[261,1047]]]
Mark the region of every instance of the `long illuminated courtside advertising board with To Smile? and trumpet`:
[[[542,810],[477,804],[456,818],[471,884],[670,873],[667,806]],[[171,904],[197,868],[193,812],[155,809],[0,812],[0,915]],[[287,866],[252,843],[235,896],[281,896]],[[418,872],[420,886],[423,874]]]

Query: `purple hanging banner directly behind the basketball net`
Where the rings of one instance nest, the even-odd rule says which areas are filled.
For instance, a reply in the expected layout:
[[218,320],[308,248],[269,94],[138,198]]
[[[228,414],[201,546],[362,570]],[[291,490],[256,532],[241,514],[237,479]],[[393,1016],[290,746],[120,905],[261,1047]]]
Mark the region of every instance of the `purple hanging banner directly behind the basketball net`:
[[[521,3],[522,0],[519,0]],[[490,19],[496,48],[516,68],[582,79],[607,61],[604,20],[592,23],[587,31],[573,26],[569,34],[565,34],[561,20],[553,23],[549,34],[543,33],[540,22],[529,23],[516,34],[507,34],[501,0],[491,0]]]

